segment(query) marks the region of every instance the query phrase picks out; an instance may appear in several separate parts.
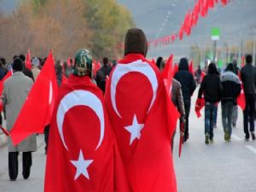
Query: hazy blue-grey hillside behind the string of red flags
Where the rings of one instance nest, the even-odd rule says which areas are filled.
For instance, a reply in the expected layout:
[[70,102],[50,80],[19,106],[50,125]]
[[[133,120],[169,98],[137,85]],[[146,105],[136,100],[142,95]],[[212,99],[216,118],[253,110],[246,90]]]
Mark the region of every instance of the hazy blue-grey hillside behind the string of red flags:
[[[124,4],[134,17],[138,27],[143,28],[148,39],[166,36],[177,32],[187,10],[192,9],[194,0],[119,0]],[[218,26],[221,30],[221,39],[218,46],[224,44],[239,45],[241,40],[253,39],[253,26],[256,26],[256,1],[232,0],[228,6],[218,6],[209,11],[206,18],[201,18],[191,36],[184,38],[183,42],[177,41],[166,47],[151,49],[149,56],[189,55],[191,44],[200,47],[212,46],[210,32],[212,26]],[[169,13],[169,19],[166,16]],[[163,23],[166,23],[160,30]]]

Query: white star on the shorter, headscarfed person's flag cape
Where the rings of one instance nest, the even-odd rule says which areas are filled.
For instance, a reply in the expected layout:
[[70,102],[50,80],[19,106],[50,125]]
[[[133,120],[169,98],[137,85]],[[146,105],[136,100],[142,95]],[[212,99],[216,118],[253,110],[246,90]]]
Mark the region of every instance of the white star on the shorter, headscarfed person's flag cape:
[[80,153],[79,153],[79,160],[70,160],[70,161],[72,162],[73,166],[75,166],[77,169],[74,180],[76,180],[81,174],[83,174],[84,177],[90,179],[87,168],[88,166],[90,166],[93,160],[84,160],[82,149],[80,150]]

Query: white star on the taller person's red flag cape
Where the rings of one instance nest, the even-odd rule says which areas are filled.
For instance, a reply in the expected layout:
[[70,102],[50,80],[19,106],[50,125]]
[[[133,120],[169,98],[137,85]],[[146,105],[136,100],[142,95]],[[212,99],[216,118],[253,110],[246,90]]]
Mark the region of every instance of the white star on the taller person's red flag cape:
[[140,139],[141,137],[141,131],[143,130],[144,124],[138,124],[137,123],[137,117],[136,114],[133,117],[132,125],[125,126],[125,130],[131,133],[130,138],[130,145],[133,143],[133,141],[137,138]]

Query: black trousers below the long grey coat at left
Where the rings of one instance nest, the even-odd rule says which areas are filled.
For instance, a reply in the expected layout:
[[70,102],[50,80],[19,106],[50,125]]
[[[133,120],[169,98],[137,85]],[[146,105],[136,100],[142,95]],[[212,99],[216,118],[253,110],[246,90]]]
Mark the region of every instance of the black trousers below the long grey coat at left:
[[[9,152],[9,178],[15,180],[18,176],[19,152]],[[32,166],[32,152],[22,153],[22,175],[26,179],[30,175],[30,168]]]

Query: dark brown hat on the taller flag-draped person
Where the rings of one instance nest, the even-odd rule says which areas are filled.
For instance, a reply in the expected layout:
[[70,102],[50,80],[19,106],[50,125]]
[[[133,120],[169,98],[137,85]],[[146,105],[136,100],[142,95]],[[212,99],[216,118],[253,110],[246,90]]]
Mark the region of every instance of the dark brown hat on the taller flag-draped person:
[[148,43],[143,30],[139,28],[131,28],[126,32],[125,36],[125,55],[138,53],[147,55]]

